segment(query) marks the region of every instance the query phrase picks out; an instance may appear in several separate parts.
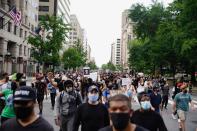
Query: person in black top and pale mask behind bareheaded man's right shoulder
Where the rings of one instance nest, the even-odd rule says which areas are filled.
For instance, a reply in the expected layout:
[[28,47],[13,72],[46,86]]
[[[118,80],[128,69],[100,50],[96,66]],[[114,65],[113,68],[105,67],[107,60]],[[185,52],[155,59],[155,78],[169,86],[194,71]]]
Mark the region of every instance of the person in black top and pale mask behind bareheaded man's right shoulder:
[[162,117],[152,109],[149,95],[142,92],[139,94],[138,100],[141,108],[134,111],[131,122],[150,131],[167,131]]

